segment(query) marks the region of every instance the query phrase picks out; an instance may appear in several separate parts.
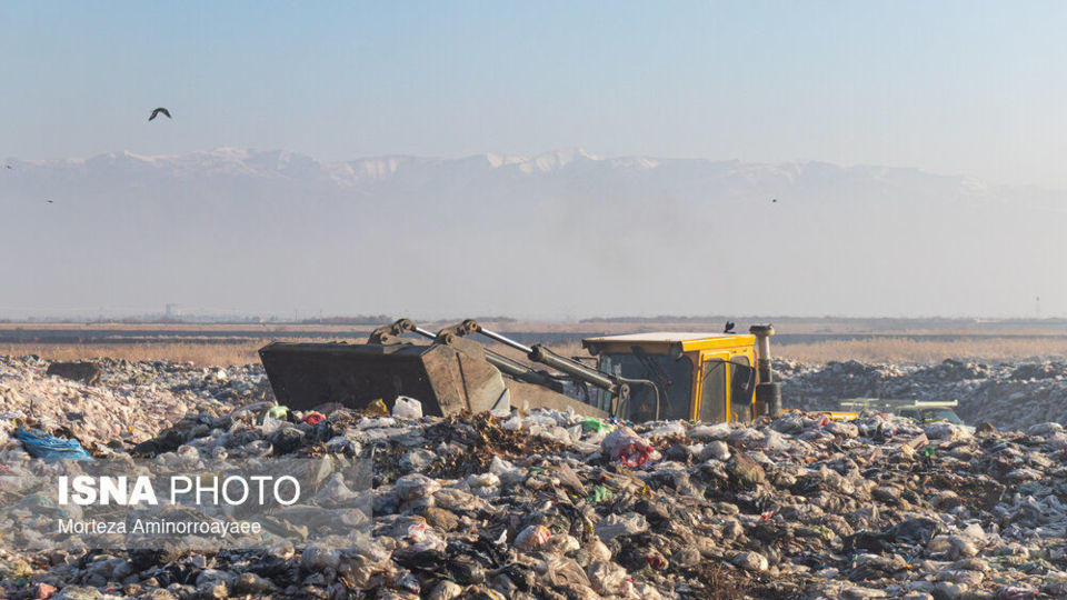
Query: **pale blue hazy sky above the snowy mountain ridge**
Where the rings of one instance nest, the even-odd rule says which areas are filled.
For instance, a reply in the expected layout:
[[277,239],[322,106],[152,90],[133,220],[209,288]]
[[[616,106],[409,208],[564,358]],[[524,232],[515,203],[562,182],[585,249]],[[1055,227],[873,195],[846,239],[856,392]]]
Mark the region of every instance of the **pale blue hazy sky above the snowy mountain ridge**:
[[[817,159],[1067,189],[1064,2],[0,2],[0,156]],[[146,123],[164,106],[170,122]]]

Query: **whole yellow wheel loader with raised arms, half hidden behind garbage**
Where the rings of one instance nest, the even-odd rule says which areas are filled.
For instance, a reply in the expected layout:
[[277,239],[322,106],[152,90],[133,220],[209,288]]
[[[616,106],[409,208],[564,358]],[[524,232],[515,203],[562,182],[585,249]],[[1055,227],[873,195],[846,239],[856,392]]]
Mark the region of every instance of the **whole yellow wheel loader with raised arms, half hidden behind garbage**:
[[[636,333],[587,338],[589,366],[466,320],[437,333],[400,319],[367,343],[273,342],[260,349],[275,397],[297,410],[415,398],[425,414],[554,408],[625,421],[752,421],[781,412],[770,326],[749,334]],[[415,333],[429,340],[413,343]],[[551,369],[536,370],[475,341],[480,334]]]

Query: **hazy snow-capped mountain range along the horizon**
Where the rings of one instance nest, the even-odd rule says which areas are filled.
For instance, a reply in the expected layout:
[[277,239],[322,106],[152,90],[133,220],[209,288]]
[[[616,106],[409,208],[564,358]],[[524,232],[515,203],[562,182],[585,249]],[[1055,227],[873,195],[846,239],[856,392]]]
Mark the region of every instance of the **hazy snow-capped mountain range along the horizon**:
[[0,317],[1067,312],[1067,193],[918,169],[579,149],[4,164],[0,281],[22,284]]

